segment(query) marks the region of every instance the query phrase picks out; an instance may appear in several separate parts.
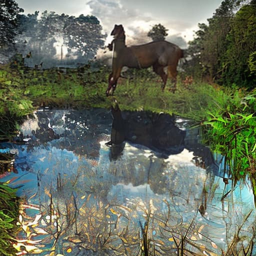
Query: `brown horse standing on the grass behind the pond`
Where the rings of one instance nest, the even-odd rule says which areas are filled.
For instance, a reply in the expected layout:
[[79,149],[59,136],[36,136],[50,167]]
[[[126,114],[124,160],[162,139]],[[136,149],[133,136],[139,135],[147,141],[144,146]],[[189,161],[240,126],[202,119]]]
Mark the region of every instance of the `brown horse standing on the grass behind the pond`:
[[168,66],[168,76],[174,81],[175,90],[176,68],[179,58],[183,57],[182,49],[164,40],[127,47],[125,45],[125,34],[122,25],[115,24],[111,35],[113,35],[114,39],[107,47],[109,50],[113,50],[112,72],[108,76],[107,96],[113,94],[123,66],[134,68],[152,66],[153,71],[160,75],[163,81],[162,89],[164,89],[167,80],[167,74],[163,68]]

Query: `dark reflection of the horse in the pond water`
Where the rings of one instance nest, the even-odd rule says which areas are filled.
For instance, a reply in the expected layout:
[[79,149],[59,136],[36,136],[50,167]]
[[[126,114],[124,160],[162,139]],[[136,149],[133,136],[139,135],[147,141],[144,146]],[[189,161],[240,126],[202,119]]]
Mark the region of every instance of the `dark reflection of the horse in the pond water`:
[[163,113],[147,116],[143,112],[122,112],[116,101],[111,107],[111,114],[110,141],[106,143],[110,146],[110,160],[115,160],[122,154],[126,140],[156,150],[163,158],[184,149],[185,132],[175,125],[173,116]]

